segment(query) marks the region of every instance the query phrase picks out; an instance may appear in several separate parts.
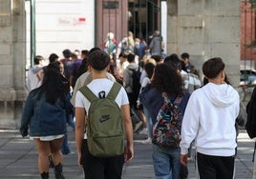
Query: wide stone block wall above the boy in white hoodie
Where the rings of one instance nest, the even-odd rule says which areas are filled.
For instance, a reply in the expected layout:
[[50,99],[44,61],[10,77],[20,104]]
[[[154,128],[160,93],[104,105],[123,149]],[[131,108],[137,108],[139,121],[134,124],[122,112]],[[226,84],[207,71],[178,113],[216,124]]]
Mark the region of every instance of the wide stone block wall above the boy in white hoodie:
[[167,7],[167,54],[188,52],[199,70],[209,58],[221,57],[228,78],[238,87],[240,1],[167,0]]

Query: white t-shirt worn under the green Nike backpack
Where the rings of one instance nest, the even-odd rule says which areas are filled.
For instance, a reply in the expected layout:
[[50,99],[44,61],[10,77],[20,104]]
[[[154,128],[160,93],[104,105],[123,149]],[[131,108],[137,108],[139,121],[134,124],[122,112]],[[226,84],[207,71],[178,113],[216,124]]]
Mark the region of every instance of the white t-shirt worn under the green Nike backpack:
[[[113,84],[114,82],[107,78],[100,78],[95,79],[90,84],[88,84],[88,88],[91,89],[97,97],[98,93],[102,90],[105,91],[105,96],[107,96]],[[123,87],[121,87],[119,90],[115,101],[119,108],[123,105],[129,104],[127,93]],[[75,95],[75,108],[84,108],[88,113],[90,105],[91,103],[88,101],[88,99],[79,90],[77,90]],[[87,138],[86,135],[84,138]]]

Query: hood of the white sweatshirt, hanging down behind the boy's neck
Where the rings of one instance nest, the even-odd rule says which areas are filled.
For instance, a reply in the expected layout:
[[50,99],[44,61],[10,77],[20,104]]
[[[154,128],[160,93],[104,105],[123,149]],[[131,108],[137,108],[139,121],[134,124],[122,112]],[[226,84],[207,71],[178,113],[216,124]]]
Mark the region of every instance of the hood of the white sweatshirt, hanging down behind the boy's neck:
[[239,99],[237,90],[227,84],[208,83],[202,89],[212,104],[218,107],[228,107]]

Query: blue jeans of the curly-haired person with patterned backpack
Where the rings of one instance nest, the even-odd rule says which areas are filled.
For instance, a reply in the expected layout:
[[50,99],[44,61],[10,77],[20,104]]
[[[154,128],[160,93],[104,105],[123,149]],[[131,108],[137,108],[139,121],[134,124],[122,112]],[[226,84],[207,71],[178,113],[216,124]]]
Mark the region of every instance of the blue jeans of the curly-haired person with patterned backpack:
[[153,164],[157,179],[178,179],[180,175],[181,149],[162,148],[153,146]]

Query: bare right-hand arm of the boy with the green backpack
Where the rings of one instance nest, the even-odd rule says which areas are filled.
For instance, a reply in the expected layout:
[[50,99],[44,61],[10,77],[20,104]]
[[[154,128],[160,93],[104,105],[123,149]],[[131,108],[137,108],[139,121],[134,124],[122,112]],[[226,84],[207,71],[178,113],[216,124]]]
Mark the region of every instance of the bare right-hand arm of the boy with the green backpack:
[[133,139],[133,126],[132,119],[130,115],[130,106],[123,105],[121,106],[121,111],[124,120],[124,128],[127,138],[127,146],[125,148],[125,162],[130,162],[134,158],[134,139]]

